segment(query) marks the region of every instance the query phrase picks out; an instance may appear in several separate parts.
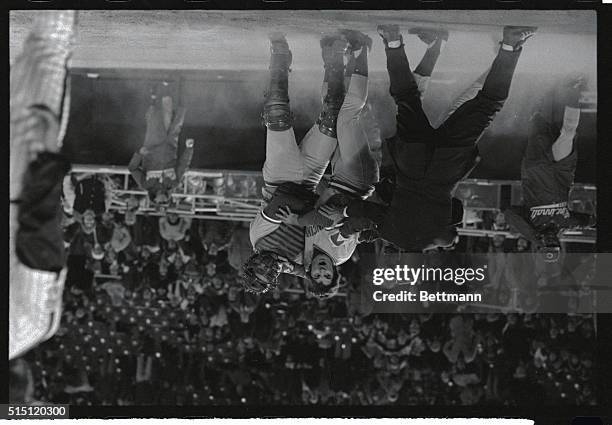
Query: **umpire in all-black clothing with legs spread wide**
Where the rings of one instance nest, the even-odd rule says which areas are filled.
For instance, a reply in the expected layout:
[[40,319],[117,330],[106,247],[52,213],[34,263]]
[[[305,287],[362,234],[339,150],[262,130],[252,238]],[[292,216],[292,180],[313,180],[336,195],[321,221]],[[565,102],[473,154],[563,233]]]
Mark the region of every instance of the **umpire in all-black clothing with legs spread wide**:
[[463,208],[451,192],[477,163],[476,142],[503,107],[522,46],[536,28],[504,28],[482,89],[438,128],[431,126],[423,111],[398,26],[381,25],[378,31],[387,55],[390,93],[398,108],[397,132],[387,141],[393,190],[388,206],[353,201],[346,214],[371,219],[382,238],[403,250],[452,246]]

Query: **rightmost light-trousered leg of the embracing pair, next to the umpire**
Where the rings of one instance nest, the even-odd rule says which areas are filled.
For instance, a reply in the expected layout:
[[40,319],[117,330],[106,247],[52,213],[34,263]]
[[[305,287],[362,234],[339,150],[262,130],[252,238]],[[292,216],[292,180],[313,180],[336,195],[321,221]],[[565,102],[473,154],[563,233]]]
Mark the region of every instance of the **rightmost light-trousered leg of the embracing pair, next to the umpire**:
[[348,91],[338,114],[338,150],[334,157],[331,187],[367,196],[378,182],[378,164],[360,120],[368,96],[368,50],[372,40],[357,31],[343,31],[354,58]]

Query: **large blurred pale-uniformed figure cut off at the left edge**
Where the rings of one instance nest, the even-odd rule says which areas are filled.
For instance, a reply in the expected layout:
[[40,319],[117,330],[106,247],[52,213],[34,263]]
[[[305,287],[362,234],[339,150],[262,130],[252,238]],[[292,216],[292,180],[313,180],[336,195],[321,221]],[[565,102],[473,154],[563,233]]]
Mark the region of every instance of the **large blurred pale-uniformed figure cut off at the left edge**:
[[66,278],[60,153],[77,13],[39,11],[10,75],[9,359],[52,337]]

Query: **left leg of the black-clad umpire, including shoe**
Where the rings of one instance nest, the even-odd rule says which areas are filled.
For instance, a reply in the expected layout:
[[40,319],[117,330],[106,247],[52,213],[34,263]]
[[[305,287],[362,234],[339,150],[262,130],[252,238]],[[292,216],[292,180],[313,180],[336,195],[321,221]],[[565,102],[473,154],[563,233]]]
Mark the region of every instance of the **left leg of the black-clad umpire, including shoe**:
[[432,143],[433,128],[423,111],[421,92],[410,69],[399,27],[380,25],[378,32],[385,44],[389,92],[397,104],[397,136],[403,143]]

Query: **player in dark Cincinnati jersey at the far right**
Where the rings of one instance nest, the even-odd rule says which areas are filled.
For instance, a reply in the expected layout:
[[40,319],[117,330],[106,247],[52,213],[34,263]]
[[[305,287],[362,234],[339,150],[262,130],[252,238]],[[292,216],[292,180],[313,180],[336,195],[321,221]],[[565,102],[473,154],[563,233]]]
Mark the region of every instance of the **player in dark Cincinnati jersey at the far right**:
[[529,122],[521,164],[524,206],[504,211],[510,227],[548,262],[559,260],[563,229],[595,224],[595,217],[571,211],[567,202],[578,160],[575,141],[584,85],[581,78],[570,78],[540,102]]

